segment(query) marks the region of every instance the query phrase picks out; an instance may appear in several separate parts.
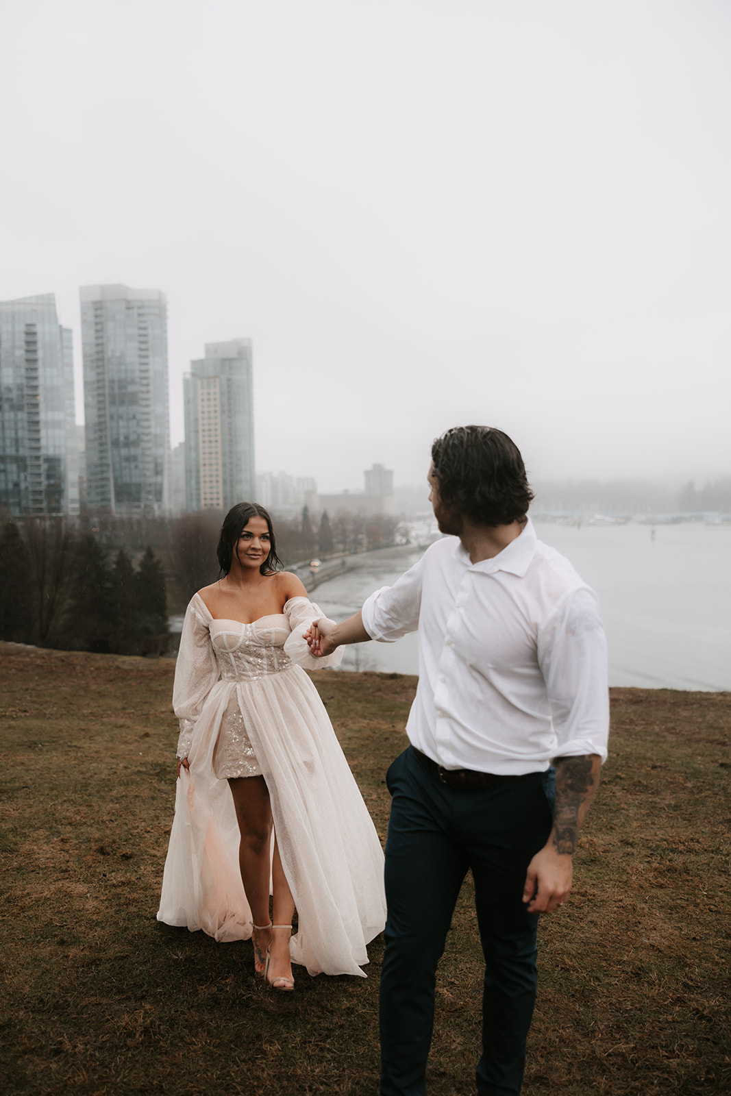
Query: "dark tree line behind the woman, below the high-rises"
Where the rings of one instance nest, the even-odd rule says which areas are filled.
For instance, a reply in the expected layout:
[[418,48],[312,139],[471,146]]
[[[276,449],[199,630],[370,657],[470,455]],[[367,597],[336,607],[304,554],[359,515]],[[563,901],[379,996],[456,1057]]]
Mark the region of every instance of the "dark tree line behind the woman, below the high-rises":
[[[60,650],[162,653],[168,614],[218,578],[222,513],[174,520],[9,518],[0,533],[0,639]],[[338,514],[319,522],[305,506],[275,520],[285,567],[393,544],[396,518]]]

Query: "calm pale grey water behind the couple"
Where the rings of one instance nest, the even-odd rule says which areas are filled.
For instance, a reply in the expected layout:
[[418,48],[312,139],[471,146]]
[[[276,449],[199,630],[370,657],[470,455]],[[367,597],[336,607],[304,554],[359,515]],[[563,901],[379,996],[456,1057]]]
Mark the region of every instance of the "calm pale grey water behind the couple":
[[[573,526],[536,523],[597,592],[609,643],[609,684],[731,689],[731,526]],[[393,549],[323,582],[312,598],[342,620],[390,585],[421,552]],[[416,636],[346,649],[343,669],[415,674]]]

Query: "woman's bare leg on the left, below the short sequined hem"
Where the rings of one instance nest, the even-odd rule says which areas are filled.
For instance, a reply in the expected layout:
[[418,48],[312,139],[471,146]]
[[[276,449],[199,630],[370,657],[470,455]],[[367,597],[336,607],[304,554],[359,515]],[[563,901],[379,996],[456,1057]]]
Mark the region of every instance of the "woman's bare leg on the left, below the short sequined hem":
[[[230,779],[228,786],[233,796],[233,807],[241,834],[239,842],[241,882],[247,892],[254,925],[269,926],[270,847],[272,842],[272,808],[269,788],[263,776],[237,777]],[[271,937],[272,929],[269,927],[260,932],[254,931],[254,970],[258,974],[264,973],[263,957]]]

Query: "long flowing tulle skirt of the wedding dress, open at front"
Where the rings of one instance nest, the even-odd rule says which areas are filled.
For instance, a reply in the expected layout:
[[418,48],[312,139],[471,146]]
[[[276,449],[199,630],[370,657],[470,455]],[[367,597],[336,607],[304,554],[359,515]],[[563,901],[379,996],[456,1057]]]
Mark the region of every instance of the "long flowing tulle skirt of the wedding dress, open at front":
[[236,700],[297,906],[293,961],[311,974],[363,974],[366,944],[386,921],[384,854],[319,694],[297,665],[219,681],[208,695],[190,772],[178,780],[158,920],[220,941],[251,936],[233,799],[214,768],[221,720]]

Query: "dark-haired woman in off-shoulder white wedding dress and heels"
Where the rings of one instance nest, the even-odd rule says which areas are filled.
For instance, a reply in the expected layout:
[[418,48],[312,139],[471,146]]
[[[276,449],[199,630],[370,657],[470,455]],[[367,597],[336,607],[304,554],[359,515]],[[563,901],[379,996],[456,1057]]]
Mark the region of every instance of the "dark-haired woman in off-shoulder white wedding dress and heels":
[[251,937],[254,970],[277,990],[294,987],[292,962],[363,975],[386,920],[384,857],[301,669],[342,653],[309,653],[304,633],[322,614],[276,570],[263,507],[229,511],[217,555],[224,576],[192,598],[175,666],[179,780],[158,920]]

